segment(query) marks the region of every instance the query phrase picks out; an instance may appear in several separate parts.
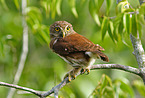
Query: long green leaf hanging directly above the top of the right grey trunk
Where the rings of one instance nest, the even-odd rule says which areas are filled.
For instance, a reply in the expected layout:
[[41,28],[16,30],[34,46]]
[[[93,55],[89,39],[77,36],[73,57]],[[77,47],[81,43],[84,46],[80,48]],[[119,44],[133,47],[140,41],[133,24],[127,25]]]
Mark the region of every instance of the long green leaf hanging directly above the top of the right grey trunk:
[[132,18],[131,18],[131,21],[132,21],[132,34],[137,37],[137,15],[136,14],[133,14],[132,15]]

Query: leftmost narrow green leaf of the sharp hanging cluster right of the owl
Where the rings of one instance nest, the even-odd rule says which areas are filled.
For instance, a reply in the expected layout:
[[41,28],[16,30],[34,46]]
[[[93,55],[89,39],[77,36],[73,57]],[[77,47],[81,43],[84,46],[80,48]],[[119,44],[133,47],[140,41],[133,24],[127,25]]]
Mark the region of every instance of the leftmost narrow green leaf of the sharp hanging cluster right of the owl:
[[104,37],[106,35],[107,29],[108,29],[107,27],[108,27],[108,18],[104,16],[102,26],[101,26],[102,40],[104,40]]

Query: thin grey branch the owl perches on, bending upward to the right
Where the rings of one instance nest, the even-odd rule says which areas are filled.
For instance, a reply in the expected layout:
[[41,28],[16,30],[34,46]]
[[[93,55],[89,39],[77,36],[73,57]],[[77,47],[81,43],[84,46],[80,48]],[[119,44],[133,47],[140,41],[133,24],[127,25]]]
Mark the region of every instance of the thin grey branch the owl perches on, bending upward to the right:
[[[97,64],[97,65],[91,66],[91,70],[96,70],[96,69],[119,69],[119,70],[123,70],[126,72],[136,74],[138,76],[141,76],[139,69],[134,68],[134,67],[130,67],[130,66],[120,65],[120,64]],[[80,74],[81,73],[78,73],[76,76],[78,76]],[[14,85],[14,84],[8,84],[8,83],[4,83],[4,82],[0,82],[0,86],[6,86],[6,87],[11,87],[11,88],[27,91],[29,93],[32,93],[32,94],[39,96],[40,98],[46,98],[50,94],[54,93],[55,98],[58,98],[59,90],[63,86],[65,86],[67,83],[69,83],[68,77],[65,78],[61,83],[59,83],[58,85],[56,85],[55,87],[53,87],[51,90],[49,90],[47,92],[36,91],[36,90],[30,89],[30,88],[26,88],[26,87]]]

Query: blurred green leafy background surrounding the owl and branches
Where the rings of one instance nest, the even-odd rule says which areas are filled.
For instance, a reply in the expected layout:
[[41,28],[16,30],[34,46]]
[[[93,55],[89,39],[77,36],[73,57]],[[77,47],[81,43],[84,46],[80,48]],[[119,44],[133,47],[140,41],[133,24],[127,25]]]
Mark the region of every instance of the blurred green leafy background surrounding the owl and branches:
[[[138,68],[129,34],[137,31],[145,46],[145,4],[138,0],[28,0],[25,19],[29,27],[29,53],[19,85],[48,91],[72,68],[49,49],[49,26],[58,20],[70,22],[74,30],[105,48],[109,63]],[[0,1],[0,81],[12,83],[22,51],[21,0]],[[133,13],[130,15],[130,13]],[[102,41],[103,39],[103,41]],[[97,63],[105,63],[97,60]],[[106,74],[106,75],[102,75]],[[102,77],[102,78],[101,78]],[[94,70],[64,86],[63,98],[144,97],[142,80],[119,70]],[[2,98],[9,89],[0,87]],[[32,98],[15,94],[14,98]],[[109,98],[109,97],[108,97]]]

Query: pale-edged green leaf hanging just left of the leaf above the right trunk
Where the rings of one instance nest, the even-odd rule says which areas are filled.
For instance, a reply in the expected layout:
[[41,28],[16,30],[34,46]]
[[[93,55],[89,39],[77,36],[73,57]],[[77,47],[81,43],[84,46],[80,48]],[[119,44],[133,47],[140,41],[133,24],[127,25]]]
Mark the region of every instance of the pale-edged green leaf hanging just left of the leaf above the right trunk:
[[131,33],[131,18],[130,14],[125,13],[123,16],[123,25],[128,34]]

